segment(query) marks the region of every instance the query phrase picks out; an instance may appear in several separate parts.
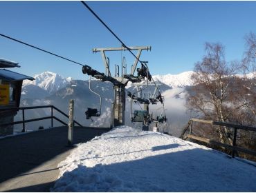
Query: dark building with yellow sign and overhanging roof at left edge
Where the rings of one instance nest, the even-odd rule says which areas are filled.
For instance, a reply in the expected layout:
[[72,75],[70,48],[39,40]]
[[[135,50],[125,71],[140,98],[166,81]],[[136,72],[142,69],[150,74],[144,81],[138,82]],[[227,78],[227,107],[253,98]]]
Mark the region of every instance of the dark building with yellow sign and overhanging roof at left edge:
[[[16,62],[0,59],[0,124],[14,121],[17,110],[10,108],[19,108],[22,82],[25,79],[34,80],[33,77],[5,69],[17,67],[20,66]],[[8,134],[13,134],[13,125],[0,126],[0,136]]]

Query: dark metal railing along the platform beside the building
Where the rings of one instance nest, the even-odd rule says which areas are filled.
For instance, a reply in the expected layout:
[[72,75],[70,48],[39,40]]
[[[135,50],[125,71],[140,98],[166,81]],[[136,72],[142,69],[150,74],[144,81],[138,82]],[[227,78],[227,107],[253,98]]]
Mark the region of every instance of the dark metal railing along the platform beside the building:
[[[40,108],[51,108],[51,116],[44,116],[44,117],[40,117],[40,118],[37,118],[37,119],[27,119],[27,120],[25,120],[25,110],[40,109]],[[21,108],[1,108],[0,111],[10,111],[10,110],[19,111],[19,110],[22,110],[22,121],[14,121],[14,122],[11,122],[11,123],[2,123],[2,124],[0,124],[0,127],[7,126],[7,125],[16,125],[16,124],[21,124],[22,123],[22,131],[21,132],[25,132],[26,131],[25,123],[29,123],[29,122],[33,122],[33,121],[42,121],[42,120],[45,120],[45,119],[51,119],[51,127],[52,128],[53,128],[53,119],[55,119],[56,121],[59,121],[63,125],[67,126],[68,125],[67,123],[58,119],[56,116],[53,116],[53,109],[56,110],[57,112],[60,112],[60,114],[66,116],[66,118],[68,118],[67,114],[65,114],[64,112],[62,112],[60,109],[56,108],[53,105],[21,107]],[[74,120],[73,122],[74,122],[74,124],[76,123],[77,125],[82,127],[82,125],[80,123],[78,123],[77,121]]]

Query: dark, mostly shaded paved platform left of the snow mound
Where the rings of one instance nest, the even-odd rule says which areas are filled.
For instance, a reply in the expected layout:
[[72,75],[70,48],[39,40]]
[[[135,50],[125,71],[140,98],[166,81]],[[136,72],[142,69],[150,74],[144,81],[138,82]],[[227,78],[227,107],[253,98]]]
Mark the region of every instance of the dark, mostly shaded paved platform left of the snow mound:
[[[106,128],[74,129],[74,143],[84,143]],[[59,127],[0,139],[0,192],[48,192],[73,148],[67,146],[68,128]]]

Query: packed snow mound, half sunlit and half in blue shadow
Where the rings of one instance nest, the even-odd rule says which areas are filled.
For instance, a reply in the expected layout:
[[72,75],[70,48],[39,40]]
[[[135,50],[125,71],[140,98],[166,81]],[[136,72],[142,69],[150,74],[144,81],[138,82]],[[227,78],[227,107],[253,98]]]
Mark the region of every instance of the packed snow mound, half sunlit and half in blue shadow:
[[80,143],[53,192],[255,192],[256,167],[202,145],[122,126]]

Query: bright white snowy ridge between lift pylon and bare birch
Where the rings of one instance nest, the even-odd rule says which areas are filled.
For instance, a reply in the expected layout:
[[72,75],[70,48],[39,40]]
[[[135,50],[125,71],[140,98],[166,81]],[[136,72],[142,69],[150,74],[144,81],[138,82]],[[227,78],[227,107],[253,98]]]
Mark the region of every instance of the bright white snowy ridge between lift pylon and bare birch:
[[160,81],[172,88],[183,88],[186,85],[192,85],[191,75],[193,71],[182,72],[181,74],[166,74],[152,76],[155,81]]

